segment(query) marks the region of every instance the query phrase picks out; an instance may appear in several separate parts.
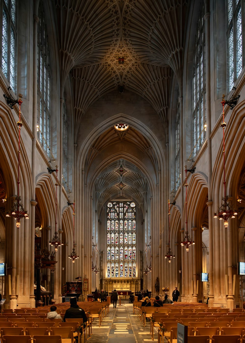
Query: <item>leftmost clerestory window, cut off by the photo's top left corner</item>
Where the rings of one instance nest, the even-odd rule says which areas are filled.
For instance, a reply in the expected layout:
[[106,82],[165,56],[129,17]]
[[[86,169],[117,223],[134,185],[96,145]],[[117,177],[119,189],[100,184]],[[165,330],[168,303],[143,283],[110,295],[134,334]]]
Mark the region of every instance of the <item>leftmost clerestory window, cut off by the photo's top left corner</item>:
[[2,1],[1,67],[16,92],[16,0]]

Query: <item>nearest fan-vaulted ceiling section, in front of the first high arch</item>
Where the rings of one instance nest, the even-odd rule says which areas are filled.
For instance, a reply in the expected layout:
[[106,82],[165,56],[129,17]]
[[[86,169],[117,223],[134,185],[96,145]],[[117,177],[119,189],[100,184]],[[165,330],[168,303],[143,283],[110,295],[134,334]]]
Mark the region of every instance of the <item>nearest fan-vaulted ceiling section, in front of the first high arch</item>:
[[182,80],[186,8],[185,0],[56,0],[61,89],[72,71],[76,132],[89,106],[119,85],[147,99],[166,130],[170,68]]

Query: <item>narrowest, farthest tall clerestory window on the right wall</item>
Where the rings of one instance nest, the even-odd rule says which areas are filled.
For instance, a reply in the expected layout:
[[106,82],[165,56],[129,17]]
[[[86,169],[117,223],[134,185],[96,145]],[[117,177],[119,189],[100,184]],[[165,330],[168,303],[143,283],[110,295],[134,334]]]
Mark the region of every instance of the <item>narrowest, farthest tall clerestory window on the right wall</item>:
[[180,106],[179,106],[179,93],[178,93],[177,106],[176,106],[176,124],[175,124],[175,190],[177,190],[179,186],[180,186]]

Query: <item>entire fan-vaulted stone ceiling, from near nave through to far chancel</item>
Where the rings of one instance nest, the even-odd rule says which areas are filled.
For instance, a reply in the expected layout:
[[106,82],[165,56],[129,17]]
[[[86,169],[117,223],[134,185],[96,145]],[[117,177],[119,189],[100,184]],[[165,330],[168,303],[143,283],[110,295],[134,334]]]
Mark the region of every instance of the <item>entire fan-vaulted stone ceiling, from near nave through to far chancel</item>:
[[[68,74],[73,82],[74,127],[77,137],[88,108],[108,92],[124,86],[142,96],[161,118],[168,134],[168,107],[173,75],[182,83],[185,0],[57,0],[60,75],[62,89]],[[124,64],[118,63],[124,57]],[[97,154],[118,140],[137,146],[151,161],[155,175],[158,160],[142,134],[113,128],[92,144],[85,174]],[[99,213],[106,202],[125,197],[143,212],[149,185],[133,163],[120,158],[101,172],[94,187]],[[127,172],[119,175],[122,165]],[[120,183],[123,188],[120,189]]]

